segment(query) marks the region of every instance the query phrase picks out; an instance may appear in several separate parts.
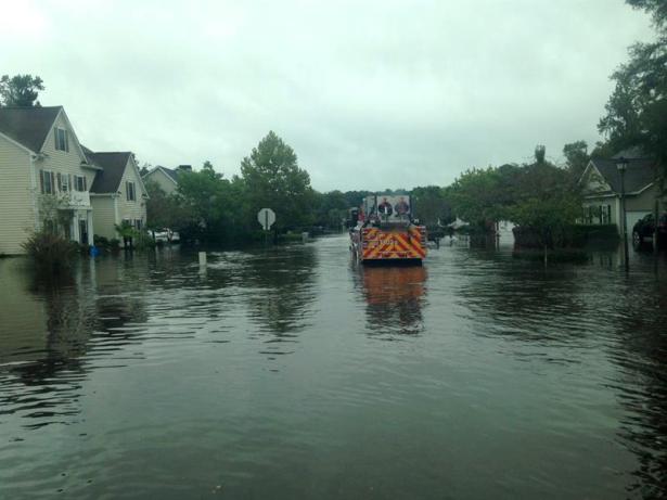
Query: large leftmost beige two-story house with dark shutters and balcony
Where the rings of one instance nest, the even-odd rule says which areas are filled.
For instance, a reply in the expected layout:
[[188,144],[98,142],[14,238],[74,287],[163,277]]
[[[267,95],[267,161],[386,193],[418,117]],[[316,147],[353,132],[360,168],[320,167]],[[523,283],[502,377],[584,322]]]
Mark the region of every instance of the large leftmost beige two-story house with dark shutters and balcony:
[[44,225],[92,243],[92,165],[62,106],[0,108],[0,253]]

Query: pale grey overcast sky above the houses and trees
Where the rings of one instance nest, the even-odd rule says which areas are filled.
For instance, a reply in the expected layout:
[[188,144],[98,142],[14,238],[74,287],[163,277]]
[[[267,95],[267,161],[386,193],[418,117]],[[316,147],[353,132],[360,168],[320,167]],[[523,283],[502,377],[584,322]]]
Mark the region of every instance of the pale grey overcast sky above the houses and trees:
[[97,151],[231,177],[274,130],[316,189],[381,190],[594,143],[652,35],[623,0],[22,0],[0,74],[41,76]]

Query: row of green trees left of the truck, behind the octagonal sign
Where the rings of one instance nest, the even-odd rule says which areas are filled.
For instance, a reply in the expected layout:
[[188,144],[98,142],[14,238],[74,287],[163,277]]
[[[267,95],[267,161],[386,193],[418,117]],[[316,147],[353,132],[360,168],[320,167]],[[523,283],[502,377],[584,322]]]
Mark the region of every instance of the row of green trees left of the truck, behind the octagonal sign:
[[241,174],[230,179],[210,162],[197,171],[177,171],[178,189],[172,194],[146,182],[149,227],[170,228],[181,239],[213,244],[260,239],[257,213],[265,207],[277,213],[272,228],[277,236],[312,228],[341,228],[348,208],[359,206],[370,193],[316,191],[294,150],[273,131],[242,159]]

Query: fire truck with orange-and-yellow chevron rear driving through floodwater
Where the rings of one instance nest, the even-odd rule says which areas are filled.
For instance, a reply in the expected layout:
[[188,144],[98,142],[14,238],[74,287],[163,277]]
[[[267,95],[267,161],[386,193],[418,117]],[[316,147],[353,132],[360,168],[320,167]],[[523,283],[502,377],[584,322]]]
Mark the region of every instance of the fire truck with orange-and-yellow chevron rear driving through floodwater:
[[352,210],[350,248],[363,264],[422,264],[426,257],[426,228],[412,218],[410,196],[367,196]]

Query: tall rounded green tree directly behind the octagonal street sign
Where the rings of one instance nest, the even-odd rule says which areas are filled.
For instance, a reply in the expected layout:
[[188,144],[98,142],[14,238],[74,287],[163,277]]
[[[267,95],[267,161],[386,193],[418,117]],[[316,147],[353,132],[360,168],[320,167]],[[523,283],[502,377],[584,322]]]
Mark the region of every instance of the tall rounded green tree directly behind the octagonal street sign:
[[[253,223],[260,208],[275,211],[275,229],[309,226],[315,220],[310,177],[298,167],[294,150],[270,131],[241,162],[246,197],[246,220]],[[255,226],[257,223],[255,222]]]

